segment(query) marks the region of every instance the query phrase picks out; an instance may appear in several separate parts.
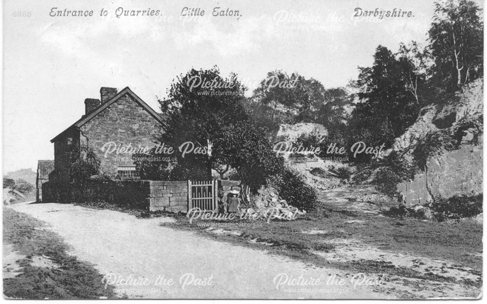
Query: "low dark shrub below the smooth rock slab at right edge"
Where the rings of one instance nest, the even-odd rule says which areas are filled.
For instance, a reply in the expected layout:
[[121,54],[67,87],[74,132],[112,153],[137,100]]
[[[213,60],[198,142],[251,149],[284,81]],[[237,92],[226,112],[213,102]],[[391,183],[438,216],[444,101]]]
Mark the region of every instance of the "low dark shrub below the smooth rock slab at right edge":
[[448,199],[440,196],[435,198],[430,208],[440,214],[440,219],[459,219],[481,213],[483,201],[483,194],[474,196],[455,195]]

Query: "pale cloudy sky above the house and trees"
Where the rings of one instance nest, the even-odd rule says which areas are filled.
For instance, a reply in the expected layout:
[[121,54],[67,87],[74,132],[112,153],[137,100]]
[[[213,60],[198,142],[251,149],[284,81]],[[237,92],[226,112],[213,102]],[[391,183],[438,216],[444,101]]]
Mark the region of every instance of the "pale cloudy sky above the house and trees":
[[[181,19],[182,9],[205,16]],[[51,8],[93,10],[93,17],[50,17]],[[162,17],[115,17],[115,10],[160,10]],[[211,17],[214,7],[240,18]],[[413,18],[352,18],[354,9],[393,8]],[[100,17],[100,9],[108,11]],[[14,17],[29,11],[31,17]],[[432,1],[4,1],[3,171],[54,159],[50,139],[84,114],[102,86],[129,86],[159,111],[172,79],[218,65],[248,85],[281,69],[345,86],[369,66],[377,45],[424,43]],[[286,18],[287,16],[287,18]],[[292,20],[293,16],[298,16]]]

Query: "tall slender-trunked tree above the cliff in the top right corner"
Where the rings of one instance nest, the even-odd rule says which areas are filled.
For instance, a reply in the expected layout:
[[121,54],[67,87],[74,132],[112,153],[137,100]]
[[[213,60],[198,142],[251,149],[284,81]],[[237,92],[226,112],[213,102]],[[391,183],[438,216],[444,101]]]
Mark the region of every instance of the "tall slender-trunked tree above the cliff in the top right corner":
[[442,87],[456,90],[483,75],[484,23],[482,10],[474,1],[435,3],[428,36],[435,80]]

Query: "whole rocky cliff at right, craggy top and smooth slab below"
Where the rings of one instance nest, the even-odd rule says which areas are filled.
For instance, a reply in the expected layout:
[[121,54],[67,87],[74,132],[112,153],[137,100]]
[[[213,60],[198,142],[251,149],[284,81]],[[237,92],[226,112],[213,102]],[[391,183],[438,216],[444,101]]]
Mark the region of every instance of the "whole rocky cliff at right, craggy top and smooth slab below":
[[424,157],[414,178],[397,185],[407,204],[482,193],[483,89],[483,79],[477,79],[447,100],[423,108],[385,153],[398,152],[406,162]]

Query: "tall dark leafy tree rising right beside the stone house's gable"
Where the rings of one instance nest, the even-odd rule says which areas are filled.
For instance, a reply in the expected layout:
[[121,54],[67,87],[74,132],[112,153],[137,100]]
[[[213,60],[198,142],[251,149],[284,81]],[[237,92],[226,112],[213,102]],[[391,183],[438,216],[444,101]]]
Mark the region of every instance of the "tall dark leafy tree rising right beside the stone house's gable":
[[177,157],[171,179],[210,178],[211,169],[222,170],[225,164],[214,156],[221,155],[218,150],[222,147],[214,143],[233,124],[248,119],[244,92],[245,87],[235,74],[224,78],[216,66],[209,70],[192,69],[174,80],[168,97],[160,100],[162,112],[169,117],[159,141],[176,150],[189,142],[188,149],[193,149],[184,157],[180,151],[171,155]]

